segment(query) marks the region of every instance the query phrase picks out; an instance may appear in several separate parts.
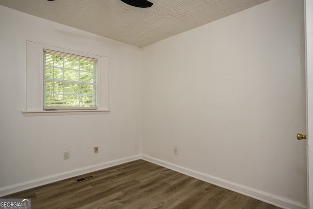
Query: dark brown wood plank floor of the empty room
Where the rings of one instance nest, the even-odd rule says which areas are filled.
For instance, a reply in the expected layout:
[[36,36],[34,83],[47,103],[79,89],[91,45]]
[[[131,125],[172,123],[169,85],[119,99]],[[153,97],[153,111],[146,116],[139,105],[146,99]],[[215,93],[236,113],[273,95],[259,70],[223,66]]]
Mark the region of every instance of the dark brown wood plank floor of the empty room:
[[2,198],[31,198],[32,209],[279,209],[143,160]]

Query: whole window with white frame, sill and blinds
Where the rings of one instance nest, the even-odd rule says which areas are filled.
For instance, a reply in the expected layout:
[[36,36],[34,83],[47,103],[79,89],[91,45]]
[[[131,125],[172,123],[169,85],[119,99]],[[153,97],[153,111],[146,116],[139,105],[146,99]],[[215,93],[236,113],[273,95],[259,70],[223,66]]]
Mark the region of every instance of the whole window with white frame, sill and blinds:
[[25,104],[24,116],[109,113],[108,57],[27,41]]

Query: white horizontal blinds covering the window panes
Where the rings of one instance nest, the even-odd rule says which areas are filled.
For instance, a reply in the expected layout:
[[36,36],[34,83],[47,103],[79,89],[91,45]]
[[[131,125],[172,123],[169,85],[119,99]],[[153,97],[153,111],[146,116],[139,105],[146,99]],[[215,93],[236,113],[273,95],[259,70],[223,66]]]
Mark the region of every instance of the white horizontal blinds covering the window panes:
[[97,60],[44,50],[44,110],[97,109]]

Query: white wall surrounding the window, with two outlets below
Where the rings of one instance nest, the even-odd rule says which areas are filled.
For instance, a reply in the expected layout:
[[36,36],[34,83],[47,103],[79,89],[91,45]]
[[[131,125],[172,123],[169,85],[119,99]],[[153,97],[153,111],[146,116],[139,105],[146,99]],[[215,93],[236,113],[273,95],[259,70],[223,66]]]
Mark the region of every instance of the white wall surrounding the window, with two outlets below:
[[[108,56],[111,112],[23,116],[27,40]],[[0,196],[139,156],[138,47],[0,6],[0,63]]]

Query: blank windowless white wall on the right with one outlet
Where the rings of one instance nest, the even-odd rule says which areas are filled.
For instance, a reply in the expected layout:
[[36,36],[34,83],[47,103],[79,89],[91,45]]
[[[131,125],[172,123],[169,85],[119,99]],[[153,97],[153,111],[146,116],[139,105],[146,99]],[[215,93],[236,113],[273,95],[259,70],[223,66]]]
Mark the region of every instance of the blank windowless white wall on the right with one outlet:
[[305,207],[303,16],[270,0],[142,48],[143,155]]

